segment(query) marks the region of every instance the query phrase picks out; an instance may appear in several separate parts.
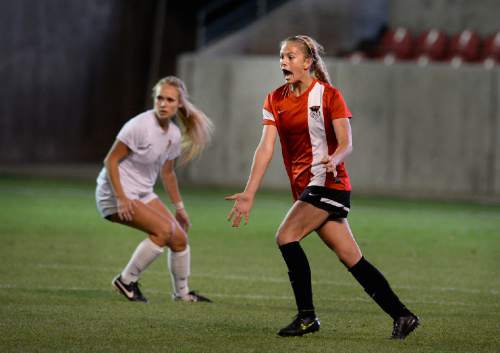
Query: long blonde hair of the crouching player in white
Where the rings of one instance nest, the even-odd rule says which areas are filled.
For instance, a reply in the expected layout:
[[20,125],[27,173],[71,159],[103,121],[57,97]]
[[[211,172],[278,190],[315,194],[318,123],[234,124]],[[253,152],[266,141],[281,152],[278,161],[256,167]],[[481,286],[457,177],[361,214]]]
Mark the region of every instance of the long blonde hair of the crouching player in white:
[[181,107],[177,110],[182,131],[182,157],[181,161],[186,163],[198,156],[207,146],[212,138],[214,126],[212,121],[189,101],[188,91],[185,83],[176,76],[167,76],[159,80],[153,87],[153,99],[157,89],[163,85],[177,88]]

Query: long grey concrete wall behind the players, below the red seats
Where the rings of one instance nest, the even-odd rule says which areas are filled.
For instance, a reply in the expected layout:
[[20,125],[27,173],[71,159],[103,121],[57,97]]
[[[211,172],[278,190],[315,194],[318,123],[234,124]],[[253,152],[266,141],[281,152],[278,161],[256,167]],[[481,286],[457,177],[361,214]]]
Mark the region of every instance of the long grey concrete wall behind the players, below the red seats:
[[[355,190],[500,200],[499,69],[341,60],[327,66],[354,115],[347,167]],[[278,61],[185,55],[178,67],[217,129],[214,143],[181,175],[244,185],[262,102],[283,82]],[[264,186],[288,189],[280,153]]]

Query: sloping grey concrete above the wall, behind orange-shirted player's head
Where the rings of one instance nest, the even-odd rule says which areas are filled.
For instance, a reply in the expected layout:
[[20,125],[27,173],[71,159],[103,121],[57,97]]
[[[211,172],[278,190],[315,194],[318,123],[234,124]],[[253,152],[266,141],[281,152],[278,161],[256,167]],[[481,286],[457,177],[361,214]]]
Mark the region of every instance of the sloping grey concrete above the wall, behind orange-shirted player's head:
[[281,40],[308,34],[333,56],[374,37],[387,24],[388,13],[388,0],[293,0],[199,52],[278,55]]

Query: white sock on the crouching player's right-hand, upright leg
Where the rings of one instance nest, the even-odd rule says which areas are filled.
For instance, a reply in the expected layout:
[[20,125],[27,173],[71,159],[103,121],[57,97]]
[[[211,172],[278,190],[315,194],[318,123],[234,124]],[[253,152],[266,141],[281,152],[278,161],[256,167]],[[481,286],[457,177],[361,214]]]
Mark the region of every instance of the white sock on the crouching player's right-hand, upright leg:
[[184,297],[189,293],[188,277],[191,268],[191,251],[186,249],[173,252],[168,249],[168,268],[172,276],[172,287],[177,297]]

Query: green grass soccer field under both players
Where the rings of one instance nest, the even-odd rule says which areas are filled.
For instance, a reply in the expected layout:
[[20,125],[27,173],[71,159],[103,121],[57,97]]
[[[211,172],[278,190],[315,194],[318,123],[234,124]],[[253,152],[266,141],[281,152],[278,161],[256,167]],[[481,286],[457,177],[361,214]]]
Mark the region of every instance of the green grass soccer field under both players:
[[279,338],[294,301],[274,232],[290,197],[261,192],[233,229],[235,191],[183,188],[190,287],[214,303],[173,302],[165,257],[141,278],[142,304],[110,281],[143,235],[100,219],[93,182],[0,177],[0,352],[500,352],[500,206],[354,198],[365,257],[422,325],[387,339],[389,317],[311,234],[321,330]]

